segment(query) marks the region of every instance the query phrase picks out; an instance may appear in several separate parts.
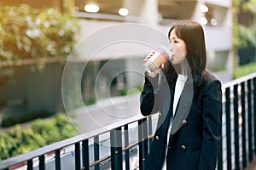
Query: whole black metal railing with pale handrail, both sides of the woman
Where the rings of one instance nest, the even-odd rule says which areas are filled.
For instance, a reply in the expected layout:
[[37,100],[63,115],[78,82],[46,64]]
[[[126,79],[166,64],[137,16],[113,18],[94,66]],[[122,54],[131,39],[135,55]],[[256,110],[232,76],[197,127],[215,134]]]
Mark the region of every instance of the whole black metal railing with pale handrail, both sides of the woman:
[[[223,94],[222,152],[217,169],[243,169],[256,155],[256,73],[224,83]],[[1,161],[0,169],[15,169],[19,164],[26,169],[67,169],[64,164],[69,153],[72,169],[131,169],[131,158],[138,158],[135,166],[141,170],[154,135],[155,116],[133,116],[32,150]]]

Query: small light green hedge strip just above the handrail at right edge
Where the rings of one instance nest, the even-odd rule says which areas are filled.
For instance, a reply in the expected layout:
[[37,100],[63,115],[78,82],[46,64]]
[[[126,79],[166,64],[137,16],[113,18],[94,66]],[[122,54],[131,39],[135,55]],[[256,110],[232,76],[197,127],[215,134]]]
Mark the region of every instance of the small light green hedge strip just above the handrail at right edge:
[[244,77],[248,74],[256,72],[256,63],[250,63],[247,65],[241,65],[234,69],[234,78]]

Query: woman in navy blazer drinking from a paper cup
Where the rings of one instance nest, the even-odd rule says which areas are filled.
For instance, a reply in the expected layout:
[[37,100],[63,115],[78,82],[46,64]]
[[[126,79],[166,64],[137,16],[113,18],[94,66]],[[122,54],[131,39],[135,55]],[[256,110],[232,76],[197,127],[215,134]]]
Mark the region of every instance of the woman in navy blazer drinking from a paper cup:
[[145,73],[141,94],[143,116],[159,114],[145,169],[214,170],[221,144],[222,91],[206,70],[203,28],[184,20],[172,26],[168,37],[172,59]]

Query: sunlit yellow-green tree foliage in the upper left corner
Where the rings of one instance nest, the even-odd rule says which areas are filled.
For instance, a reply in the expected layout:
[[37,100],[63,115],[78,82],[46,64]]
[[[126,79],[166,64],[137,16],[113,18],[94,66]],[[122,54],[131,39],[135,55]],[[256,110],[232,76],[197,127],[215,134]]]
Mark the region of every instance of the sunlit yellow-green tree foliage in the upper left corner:
[[71,53],[79,23],[54,8],[0,6],[0,61]]

